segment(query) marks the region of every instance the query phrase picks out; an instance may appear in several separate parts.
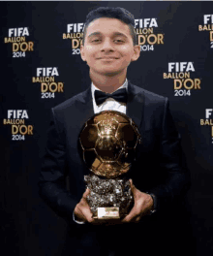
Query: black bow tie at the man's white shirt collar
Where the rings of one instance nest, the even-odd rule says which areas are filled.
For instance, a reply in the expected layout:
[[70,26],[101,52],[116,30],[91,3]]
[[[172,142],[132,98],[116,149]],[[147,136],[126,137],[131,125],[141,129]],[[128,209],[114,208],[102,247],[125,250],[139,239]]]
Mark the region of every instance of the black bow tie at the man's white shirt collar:
[[95,90],[95,100],[97,105],[105,102],[107,98],[112,98],[117,102],[127,103],[127,90],[126,88],[122,88],[111,94],[104,91]]

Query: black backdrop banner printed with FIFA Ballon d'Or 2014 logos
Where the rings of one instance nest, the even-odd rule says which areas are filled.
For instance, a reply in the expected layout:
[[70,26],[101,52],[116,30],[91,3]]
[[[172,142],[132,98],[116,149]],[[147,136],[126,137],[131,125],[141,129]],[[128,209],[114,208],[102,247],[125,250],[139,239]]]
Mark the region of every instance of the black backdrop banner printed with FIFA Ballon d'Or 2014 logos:
[[22,256],[57,255],[63,243],[66,223],[39,197],[37,183],[50,109],[90,86],[79,48],[86,15],[101,6],[135,16],[140,57],[128,80],[169,99],[192,177],[186,211],[194,249],[212,255],[211,2],[0,3],[1,241]]

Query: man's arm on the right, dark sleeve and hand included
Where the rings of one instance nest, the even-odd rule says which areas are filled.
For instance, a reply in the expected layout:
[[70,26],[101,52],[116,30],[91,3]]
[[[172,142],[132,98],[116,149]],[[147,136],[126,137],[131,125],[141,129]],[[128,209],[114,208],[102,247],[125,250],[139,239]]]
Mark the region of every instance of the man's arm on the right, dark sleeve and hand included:
[[161,159],[160,168],[167,173],[167,177],[163,183],[146,191],[154,195],[155,204],[149,194],[139,191],[131,182],[135,205],[123,219],[123,222],[138,222],[142,216],[150,214],[150,210],[154,209],[154,205],[157,211],[169,208],[174,199],[183,196],[190,187],[190,173],[182,157],[180,135],[176,131],[169,112],[167,98],[159,154]]

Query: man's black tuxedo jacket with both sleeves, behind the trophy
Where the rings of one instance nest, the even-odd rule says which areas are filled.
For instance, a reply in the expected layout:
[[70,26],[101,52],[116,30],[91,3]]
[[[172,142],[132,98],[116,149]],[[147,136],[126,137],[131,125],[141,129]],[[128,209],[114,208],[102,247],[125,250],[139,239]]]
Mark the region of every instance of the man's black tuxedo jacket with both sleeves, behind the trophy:
[[[85,191],[83,176],[88,173],[78,154],[78,136],[83,124],[94,114],[91,88],[51,111],[40,195],[69,225],[78,225],[73,221],[73,211]],[[129,82],[127,115],[136,122],[142,137],[130,175],[137,189],[156,196],[157,212],[166,212],[171,202],[189,187],[189,175],[181,164],[180,137],[168,100]]]

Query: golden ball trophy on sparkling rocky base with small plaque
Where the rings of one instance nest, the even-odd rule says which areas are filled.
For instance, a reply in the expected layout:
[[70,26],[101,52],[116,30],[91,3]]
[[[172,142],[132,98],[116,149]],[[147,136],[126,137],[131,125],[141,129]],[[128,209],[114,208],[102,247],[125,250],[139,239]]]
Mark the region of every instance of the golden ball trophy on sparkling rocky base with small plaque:
[[134,199],[127,174],[140,143],[137,125],[124,113],[100,112],[85,122],[79,144],[91,171],[84,180],[94,218],[116,219],[129,213]]

